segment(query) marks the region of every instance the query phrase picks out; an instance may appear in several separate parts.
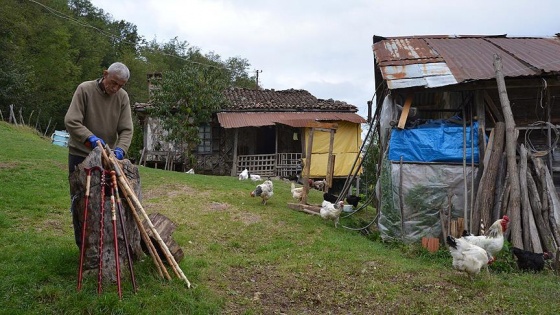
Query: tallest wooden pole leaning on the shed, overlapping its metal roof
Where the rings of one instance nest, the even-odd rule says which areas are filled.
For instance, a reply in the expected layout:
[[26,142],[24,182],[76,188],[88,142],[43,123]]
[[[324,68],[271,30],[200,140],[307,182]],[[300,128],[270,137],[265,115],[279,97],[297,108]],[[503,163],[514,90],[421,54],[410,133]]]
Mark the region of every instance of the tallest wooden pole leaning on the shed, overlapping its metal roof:
[[498,93],[500,95],[500,103],[502,112],[506,122],[506,153],[507,153],[507,172],[510,180],[510,223],[511,223],[511,242],[513,246],[523,247],[523,238],[521,236],[521,193],[519,187],[519,172],[517,170],[516,153],[517,136],[515,130],[515,120],[509,104],[509,98],[506,90],[506,82],[502,73],[502,58],[494,54],[494,70],[496,72],[496,83],[498,85]]

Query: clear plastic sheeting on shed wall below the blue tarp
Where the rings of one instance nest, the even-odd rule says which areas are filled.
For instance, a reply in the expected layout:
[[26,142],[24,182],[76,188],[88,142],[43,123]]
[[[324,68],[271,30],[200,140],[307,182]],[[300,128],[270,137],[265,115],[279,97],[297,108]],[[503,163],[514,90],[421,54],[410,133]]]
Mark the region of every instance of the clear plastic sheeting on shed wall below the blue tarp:
[[378,183],[382,192],[378,196],[381,238],[410,244],[422,237],[439,237],[440,211],[448,213],[451,207],[452,219],[464,217],[464,185],[468,187],[470,209],[471,175],[477,169],[467,166],[464,174],[463,165],[393,163],[385,159]]

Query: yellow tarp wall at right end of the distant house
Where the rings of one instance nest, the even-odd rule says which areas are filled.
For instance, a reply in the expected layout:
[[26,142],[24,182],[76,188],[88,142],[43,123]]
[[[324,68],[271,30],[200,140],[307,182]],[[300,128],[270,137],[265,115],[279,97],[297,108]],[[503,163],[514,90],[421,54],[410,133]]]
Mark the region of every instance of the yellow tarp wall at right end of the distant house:
[[[304,148],[306,149],[310,132],[311,128],[305,130],[306,143]],[[347,177],[352,171],[352,165],[354,165],[356,156],[359,154],[360,147],[362,146],[361,135],[362,127],[360,124],[347,121],[338,122],[338,129],[334,134],[333,143],[333,156],[335,157],[334,177]],[[330,138],[330,132],[315,129],[309,177],[324,178],[327,176]],[[307,163],[306,160],[304,159],[304,163]]]

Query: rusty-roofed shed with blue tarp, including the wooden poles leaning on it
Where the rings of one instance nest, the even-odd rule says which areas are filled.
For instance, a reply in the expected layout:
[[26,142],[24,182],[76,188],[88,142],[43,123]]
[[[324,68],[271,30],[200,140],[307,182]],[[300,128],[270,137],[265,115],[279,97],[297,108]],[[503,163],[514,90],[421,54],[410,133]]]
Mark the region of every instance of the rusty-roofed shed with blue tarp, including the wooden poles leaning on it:
[[373,53],[382,237],[477,234],[507,214],[515,246],[554,250],[560,38],[374,36]]

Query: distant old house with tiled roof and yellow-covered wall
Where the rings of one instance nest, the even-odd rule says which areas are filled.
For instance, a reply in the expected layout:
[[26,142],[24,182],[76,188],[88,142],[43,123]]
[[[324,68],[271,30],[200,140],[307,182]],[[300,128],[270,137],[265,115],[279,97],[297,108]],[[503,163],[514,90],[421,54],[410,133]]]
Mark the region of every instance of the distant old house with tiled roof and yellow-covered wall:
[[356,106],[295,89],[229,88],[223,93],[226,104],[199,127],[194,164],[182,161],[181,153],[164,142],[165,131],[157,121],[142,115],[147,104],[136,104],[136,112],[144,117],[140,163],[193,168],[200,174],[237,176],[247,168],[261,176],[290,177],[302,169],[308,140],[313,139],[309,177],[349,175],[359,157],[361,124],[366,122]]

